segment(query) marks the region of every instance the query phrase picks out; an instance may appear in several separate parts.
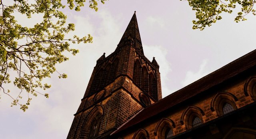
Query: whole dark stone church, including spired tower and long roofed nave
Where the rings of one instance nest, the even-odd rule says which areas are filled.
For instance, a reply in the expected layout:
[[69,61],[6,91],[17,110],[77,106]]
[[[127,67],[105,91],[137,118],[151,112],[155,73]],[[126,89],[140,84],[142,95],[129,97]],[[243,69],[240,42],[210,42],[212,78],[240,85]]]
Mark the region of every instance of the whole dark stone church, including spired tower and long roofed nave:
[[136,12],[97,60],[67,139],[256,139],[256,50],[162,99]]

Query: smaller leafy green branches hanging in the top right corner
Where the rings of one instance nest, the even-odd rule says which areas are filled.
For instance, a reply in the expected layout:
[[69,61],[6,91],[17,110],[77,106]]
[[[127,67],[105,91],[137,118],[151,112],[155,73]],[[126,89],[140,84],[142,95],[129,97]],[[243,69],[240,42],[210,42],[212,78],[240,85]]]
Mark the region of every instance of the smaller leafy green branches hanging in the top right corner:
[[188,4],[192,10],[196,10],[197,20],[193,20],[193,29],[204,30],[206,26],[211,26],[217,20],[222,19],[222,12],[232,13],[237,6],[241,10],[237,13],[234,21],[244,21],[249,13],[256,15],[256,10],[253,8],[256,0],[188,0]]

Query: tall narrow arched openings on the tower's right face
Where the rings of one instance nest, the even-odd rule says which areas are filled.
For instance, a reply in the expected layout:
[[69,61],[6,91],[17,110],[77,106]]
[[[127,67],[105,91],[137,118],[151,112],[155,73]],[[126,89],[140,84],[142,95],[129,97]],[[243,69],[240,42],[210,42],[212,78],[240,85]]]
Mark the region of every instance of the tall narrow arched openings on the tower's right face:
[[140,86],[143,91],[148,93],[154,99],[158,99],[157,97],[157,83],[156,77],[154,73],[148,71],[148,68],[140,63],[139,60],[134,62],[134,70],[133,70],[133,81],[138,86]]

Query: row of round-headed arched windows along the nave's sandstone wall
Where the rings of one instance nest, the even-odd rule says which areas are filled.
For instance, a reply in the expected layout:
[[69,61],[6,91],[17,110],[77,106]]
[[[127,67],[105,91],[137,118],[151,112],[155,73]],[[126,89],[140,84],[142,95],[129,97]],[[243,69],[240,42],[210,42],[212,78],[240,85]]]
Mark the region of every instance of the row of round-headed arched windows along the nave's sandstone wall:
[[[254,97],[253,94],[254,94],[254,91],[256,91],[255,84],[256,84],[256,80],[255,82],[250,84],[250,87],[249,87],[250,90],[248,90],[250,91],[250,95],[252,95],[252,97]],[[215,113],[216,117],[220,117],[222,115],[226,115],[236,110],[237,109],[236,105],[238,105],[236,104],[237,101],[238,101],[238,98],[232,93],[218,92],[215,96],[213,96],[211,100],[211,103],[210,103],[211,108],[209,110],[212,112],[212,114],[210,115],[211,116],[214,115],[214,111],[216,111]],[[181,124],[177,123],[177,125],[179,126],[185,125],[185,128],[186,128],[185,130],[188,130],[204,124],[205,122],[207,122],[205,121],[205,119],[207,119],[207,116],[205,115],[204,111],[200,107],[189,106],[183,111],[180,117]],[[175,124],[171,119],[163,118],[156,124],[155,131],[154,131],[155,138],[156,137],[158,139],[172,138],[175,135],[174,131],[176,131],[176,128],[177,127],[175,127]],[[140,137],[142,139],[145,139],[147,138],[146,133],[147,133],[146,129],[143,129],[143,130],[140,129],[134,134],[134,137]],[[136,138],[136,139],[139,139],[139,138]]]

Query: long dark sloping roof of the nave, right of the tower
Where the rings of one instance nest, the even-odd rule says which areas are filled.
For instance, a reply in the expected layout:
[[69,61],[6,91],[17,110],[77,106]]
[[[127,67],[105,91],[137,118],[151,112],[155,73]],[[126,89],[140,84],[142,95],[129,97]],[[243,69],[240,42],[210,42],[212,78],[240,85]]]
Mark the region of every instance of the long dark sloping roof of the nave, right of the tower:
[[[229,64],[223,66],[222,68],[198,79],[197,81],[183,87],[182,89],[164,97],[160,101],[142,109],[139,113],[134,115],[126,123],[120,126],[111,135],[117,134],[124,129],[136,125],[158,113],[173,107],[174,105],[181,103],[203,91],[216,86],[231,77],[238,75],[239,73],[248,70],[256,66],[256,50],[249,52],[248,54],[230,62]],[[202,83],[204,85],[202,85]]]

